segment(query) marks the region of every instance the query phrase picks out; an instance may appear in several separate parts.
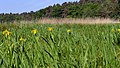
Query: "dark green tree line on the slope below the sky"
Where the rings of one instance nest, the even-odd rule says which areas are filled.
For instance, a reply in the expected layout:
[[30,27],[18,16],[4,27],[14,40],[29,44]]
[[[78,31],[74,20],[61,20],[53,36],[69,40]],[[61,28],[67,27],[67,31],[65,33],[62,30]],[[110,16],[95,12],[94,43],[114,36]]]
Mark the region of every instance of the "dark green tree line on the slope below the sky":
[[36,12],[2,13],[0,22],[37,20],[40,18],[120,18],[120,0],[80,0],[54,4]]

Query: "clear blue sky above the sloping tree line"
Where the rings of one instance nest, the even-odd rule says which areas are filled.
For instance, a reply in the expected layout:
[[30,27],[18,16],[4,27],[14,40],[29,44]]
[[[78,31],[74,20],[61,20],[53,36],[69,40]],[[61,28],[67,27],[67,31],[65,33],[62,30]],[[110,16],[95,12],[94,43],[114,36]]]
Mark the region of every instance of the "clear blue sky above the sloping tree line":
[[37,11],[54,4],[79,0],[0,0],[0,13]]

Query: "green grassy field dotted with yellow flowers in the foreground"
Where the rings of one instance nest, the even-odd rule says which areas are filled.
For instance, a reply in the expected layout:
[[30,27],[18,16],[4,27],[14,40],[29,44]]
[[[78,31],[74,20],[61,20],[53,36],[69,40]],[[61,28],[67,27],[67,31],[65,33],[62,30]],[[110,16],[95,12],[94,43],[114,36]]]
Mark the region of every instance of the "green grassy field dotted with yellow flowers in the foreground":
[[120,24],[0,24],[0,68],[119,68]]

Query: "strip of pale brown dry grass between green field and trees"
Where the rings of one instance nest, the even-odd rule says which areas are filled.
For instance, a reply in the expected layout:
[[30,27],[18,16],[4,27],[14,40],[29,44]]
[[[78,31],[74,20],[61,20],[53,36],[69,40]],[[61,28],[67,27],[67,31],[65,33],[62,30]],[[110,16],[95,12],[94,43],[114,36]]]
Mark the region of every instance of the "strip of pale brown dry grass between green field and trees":
[[[16,22],[17,23],[17,22]],[[21,23],[33,23],[33,21],[21,21]],[[38,24],[109,24],[120,23],[119,20],[109,18],[43,18],[37,20]]]

